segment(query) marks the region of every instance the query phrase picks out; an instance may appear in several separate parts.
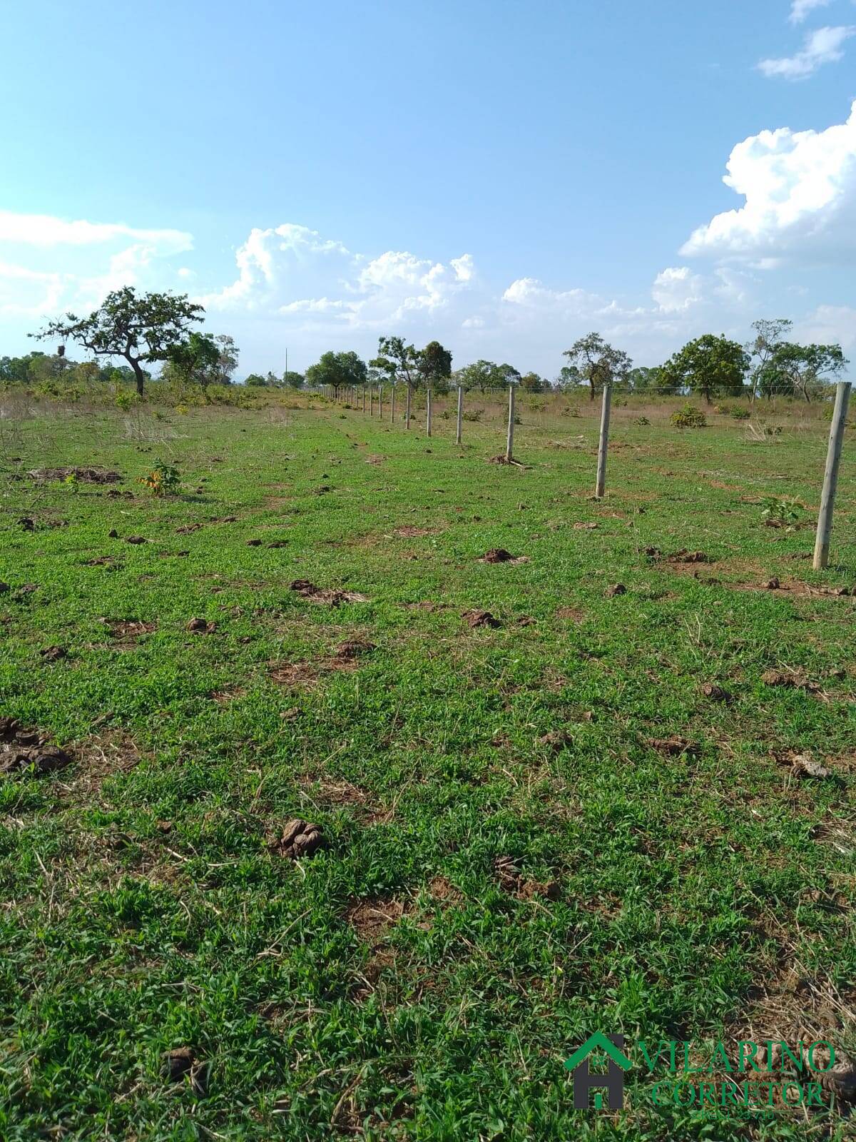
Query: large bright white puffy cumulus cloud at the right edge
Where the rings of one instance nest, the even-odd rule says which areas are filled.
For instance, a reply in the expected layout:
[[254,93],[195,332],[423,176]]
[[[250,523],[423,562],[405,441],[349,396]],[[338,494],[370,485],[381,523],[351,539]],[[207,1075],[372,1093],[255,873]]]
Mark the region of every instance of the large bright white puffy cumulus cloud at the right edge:
[[[825,130],[760,131],[738,143],[722,182],[745,201],[700,226],[681,254],[839,260],[856,243],[856,102]],[[773,264],[773,263],[770,263]]]

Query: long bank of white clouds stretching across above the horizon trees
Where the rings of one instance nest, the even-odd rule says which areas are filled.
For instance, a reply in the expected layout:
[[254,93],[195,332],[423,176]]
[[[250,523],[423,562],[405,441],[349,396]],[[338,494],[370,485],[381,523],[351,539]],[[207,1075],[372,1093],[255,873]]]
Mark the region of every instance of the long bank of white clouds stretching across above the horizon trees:
[[736,144],[724,180],[743,204],[700,225],[681,247],[686,262],[665,251],[667,264],[635,296],[580,282],[555,288],[534,275],[490,282],[469,252],[356,252],[338,235],[293,222],[252,227],[235,249],[232,280],[205,286],[187,258],[193,236],[183,231],[5,210],[0,321],[32,329],[63,311],[88,312],[123,284],[189,289],[205,306],[208,328],[242,345],[242,372],[278,368],[284,345],[301,368],[326,348],[370,356],[379,335],[395,332],[418,344],[438,338],[457,364],[490,356],[551,376],[563,349],[591,329],[654,363],[711,329],[744,340],[752,320],[780,309],[826,340],[851,339],[846,304],[800,314],[806,303],[794,304],[792,271],[843,270],[851,260],[856,102],[845,123],[765,130]]

